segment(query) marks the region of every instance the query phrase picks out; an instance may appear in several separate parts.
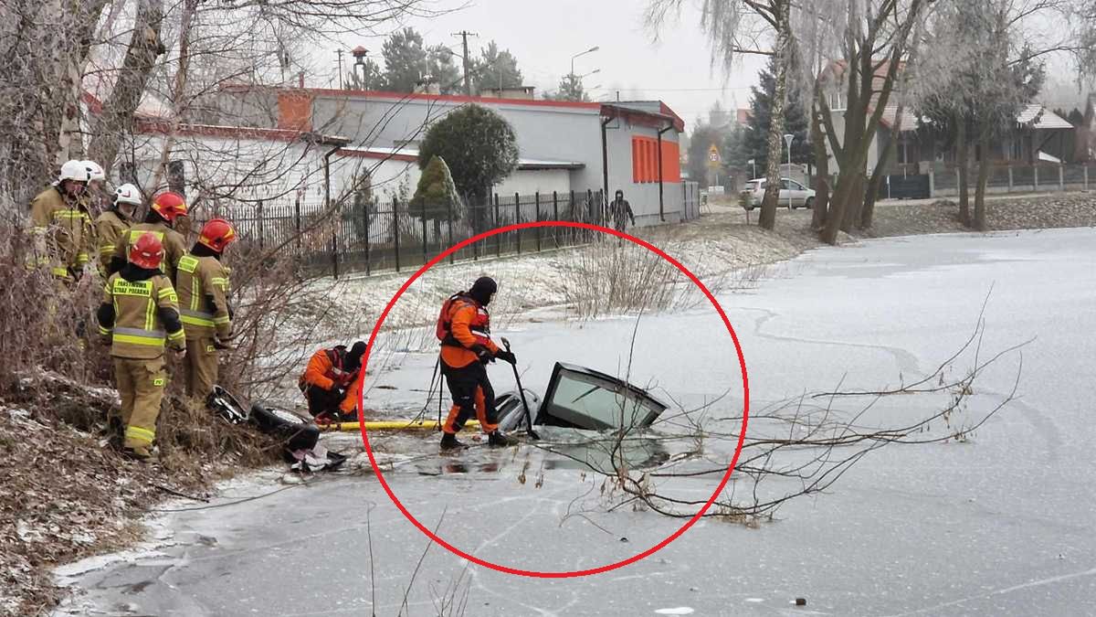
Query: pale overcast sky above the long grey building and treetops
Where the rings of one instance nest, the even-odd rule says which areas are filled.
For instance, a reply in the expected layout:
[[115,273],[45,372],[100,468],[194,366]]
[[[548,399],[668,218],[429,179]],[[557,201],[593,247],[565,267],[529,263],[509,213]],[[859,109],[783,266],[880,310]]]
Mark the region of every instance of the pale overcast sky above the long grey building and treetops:
[[[443,43],[460,51],[454,32],[467,30],[472,56],[494,40],[500,48],[517,57],[527,86],[537,92],[555,90],[570,71],[571,56],[600,46],[575,59],[578,75],[601,69],[586,77],[587,89],[601,86],[594,99],[661,99],[692,131],[697,115],[718,100],[731,109],[747,106],[749,87],[756,82],[764,60],[749,58],[731,75],[710,68],[711,48],[699,27],[699,12],[690,0],[681,19],[653,42],[643,26],[646,0],[436,0],[435,7],[456,9],[432,19],[411,19],[407,25],[422,33],[427,45]],[[464,8],[460,8],[464,7]],[[395,24],[393,24],[395,25]],[[370,56],[379,55],[383,38],[343,37],[346,48],[365,45]]]

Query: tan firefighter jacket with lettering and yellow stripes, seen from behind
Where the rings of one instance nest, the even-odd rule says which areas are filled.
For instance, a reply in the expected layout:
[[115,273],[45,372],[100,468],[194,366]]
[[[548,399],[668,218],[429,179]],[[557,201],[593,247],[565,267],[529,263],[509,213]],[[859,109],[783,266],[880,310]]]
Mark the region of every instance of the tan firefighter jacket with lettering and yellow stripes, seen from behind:
[[95,316],[115,358],[155,359],[163,356],[164,345],[186,348],[175,290],[156,270],[130,263],[111,274]]

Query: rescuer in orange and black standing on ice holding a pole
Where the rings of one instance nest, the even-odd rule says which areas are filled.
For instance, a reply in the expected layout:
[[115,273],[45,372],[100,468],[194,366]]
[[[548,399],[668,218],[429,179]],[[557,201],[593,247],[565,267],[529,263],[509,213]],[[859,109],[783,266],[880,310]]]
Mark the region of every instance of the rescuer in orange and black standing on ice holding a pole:
[[487,377],[486,364],[495,358],[517,363],[510,351],[503,351],[491,340],[491,316],[487,305],[499,290],[494,279],[481,277],[468,292],[450,296],[437,318],[437,337],[442,341],[442,374],[453,395],[453,407],[442,430],[442,449],[461,448],[457,433],[476,415],[480,428],[492,446],[512,446],[515,441],[499,430],[494,408],[494,390]]

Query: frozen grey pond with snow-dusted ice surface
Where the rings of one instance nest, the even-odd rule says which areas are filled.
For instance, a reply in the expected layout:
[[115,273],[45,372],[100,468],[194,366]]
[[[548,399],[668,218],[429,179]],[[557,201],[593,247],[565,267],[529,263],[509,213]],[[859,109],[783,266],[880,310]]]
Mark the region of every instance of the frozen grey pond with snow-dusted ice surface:
[[[83,590],[67,609],[396,615],[407,594],[410,615],[460,614],[460,606],[476,616],[1092,614],[1094,272],[1096,229],[922,236],[814,250],[754,291],[722,295],[755,413],[838,382],[875,390],[931,373],[970,336],[987,294],[986,356],[1034,339],[1023,348],[1020,397],[969,442],[872,452],[829,493],[792,501],[756,528],[706,519],[613,572],[520,577],[468,565],[436,545],[422,557],[429,539],[376,478],[334,476],[165,515],[159,548],[62,569],[62,580]],[[635,327],[620,318],[499,334],[513,341],[526,388],[543,391],[555,360],[624,374]],[[727,393],[710,417],[735,415],[741,379],[720,328],[710,310],[643,317],[630,381],[686,407]],[[1007,395],[1018,360],[1008,355],[979,377],[967,413]],[[432,369],[433,357],[409,357],[377,378],[387,388],[374,389],[372,403],[421,406],[424,394],[412,389],[426,388]],[[507,369],[491,369],[496,390],[512,386]],[[932,412],[916,405],[888,402],[865,422]],[[441,520],[439,535],[478,558],[525,570],[597,568],[657,545],[682,523],[631,507],[605,512],[601,478],[543,450],[442,458],[435,440],[378,436],[374,446],[423,455],[386,479],[423,525]],[[728,452],[726,444],[709,447],[709,458]],[[704,500],[717,484],[675,479],[667,491]],[[239,482],[225,502],[278,487],[269,475]],[[168,507],[195,505],[203,504]],[[807,605],[796,606],[797,597]]]

